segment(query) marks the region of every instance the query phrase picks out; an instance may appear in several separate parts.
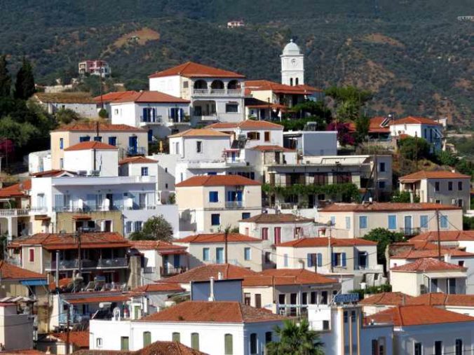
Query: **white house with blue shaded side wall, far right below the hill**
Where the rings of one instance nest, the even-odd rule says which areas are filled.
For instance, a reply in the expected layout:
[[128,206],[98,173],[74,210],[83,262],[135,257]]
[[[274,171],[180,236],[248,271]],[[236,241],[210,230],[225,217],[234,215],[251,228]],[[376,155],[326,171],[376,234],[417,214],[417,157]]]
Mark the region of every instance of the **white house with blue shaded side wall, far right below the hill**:
[[424,117],[408,116],[395,120],[389,124],[392,137],[403,135],[424,138],[431,145],[431,151],[442,149],[442,125],[435,120]]

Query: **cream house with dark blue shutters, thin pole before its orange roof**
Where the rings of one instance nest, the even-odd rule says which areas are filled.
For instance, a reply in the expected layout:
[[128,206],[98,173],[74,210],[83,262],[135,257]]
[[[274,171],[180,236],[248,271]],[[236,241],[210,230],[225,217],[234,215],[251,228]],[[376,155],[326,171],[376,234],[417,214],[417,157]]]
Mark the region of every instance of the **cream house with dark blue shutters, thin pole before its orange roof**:
[[377,243],[365,239],[300,238],[276,245],[276,268],[316,271],[344,278],[343,292],[384,283]]

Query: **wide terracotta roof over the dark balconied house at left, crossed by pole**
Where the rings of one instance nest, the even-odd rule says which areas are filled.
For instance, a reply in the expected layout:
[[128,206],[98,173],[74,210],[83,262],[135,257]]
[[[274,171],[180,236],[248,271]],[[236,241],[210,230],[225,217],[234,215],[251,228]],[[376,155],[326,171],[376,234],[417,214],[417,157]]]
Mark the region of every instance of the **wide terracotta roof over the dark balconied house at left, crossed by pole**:
[[[41,245],[46,250],[77,249],[78,239],[74,234],[37,233],[13,240],[8,248],[24,245]],[[117,232],[93,232],[81,234],[81,248],[128,248],[130,242]]]

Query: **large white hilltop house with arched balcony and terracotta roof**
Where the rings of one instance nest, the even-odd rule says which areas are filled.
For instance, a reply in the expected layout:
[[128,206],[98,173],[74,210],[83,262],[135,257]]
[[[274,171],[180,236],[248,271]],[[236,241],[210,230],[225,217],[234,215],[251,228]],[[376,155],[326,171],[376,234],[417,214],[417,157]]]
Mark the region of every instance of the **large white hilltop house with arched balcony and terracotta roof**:
[[191,102],[191,125],[244,120],[245,76],[186,62],[149,76],[149,89]]

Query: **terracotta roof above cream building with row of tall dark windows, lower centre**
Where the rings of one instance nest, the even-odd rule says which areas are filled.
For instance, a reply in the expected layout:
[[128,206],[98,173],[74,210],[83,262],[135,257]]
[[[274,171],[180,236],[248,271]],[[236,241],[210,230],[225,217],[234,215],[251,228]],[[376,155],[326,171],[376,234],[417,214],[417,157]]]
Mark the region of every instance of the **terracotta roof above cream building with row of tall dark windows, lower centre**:
[[244,277],[242,286],[338,284],[337,279],[305,269],[269,269]]

